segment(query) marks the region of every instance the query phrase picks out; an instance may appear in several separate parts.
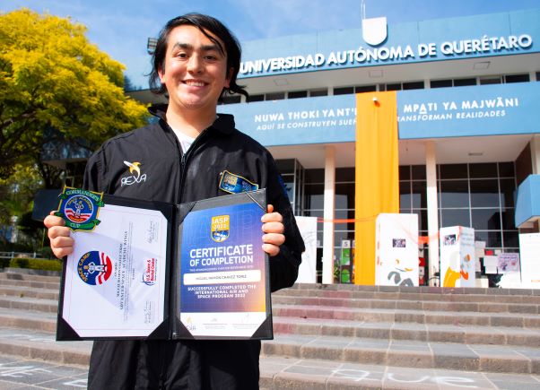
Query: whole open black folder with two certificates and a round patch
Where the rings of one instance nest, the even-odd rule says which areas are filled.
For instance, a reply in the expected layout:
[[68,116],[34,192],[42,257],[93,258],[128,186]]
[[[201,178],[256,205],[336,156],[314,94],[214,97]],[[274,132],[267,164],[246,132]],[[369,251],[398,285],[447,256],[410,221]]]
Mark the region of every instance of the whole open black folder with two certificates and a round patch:
[[[86,218],[85,199],[63,202],[59,212]],[[97,205],[91,229],[71,233],[57,340],[272,338],[264,190]]]

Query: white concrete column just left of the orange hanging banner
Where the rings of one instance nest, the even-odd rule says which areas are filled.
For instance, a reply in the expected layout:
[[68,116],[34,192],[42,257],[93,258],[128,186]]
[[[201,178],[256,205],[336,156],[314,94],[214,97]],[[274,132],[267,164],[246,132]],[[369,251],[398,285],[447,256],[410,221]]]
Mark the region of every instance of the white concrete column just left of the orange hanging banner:
[[325,210],[323,226],[323,284],[334,283],[335,148],[325,148]]

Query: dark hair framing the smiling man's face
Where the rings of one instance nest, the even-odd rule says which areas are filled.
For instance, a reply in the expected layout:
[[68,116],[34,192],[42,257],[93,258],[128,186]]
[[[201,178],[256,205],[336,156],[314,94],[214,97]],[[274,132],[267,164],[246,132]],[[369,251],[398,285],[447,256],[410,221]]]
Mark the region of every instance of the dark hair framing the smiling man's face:
[[[229,75],[232,68],[231,82],[229,88],[223,88],[222,95],[225,93],[233,94],[240,93],[248,97],[248,91],[236,83],[236,77],[240,71],[240,56],[242,50],[238,39],[231,33],[231,31],[223,25],[222,22],[213,18],[212,16],[203,15],[201,13],[187,13],[182,16],[178,16],[171,19],[165,27],[160,31],[160,36],[156,44],[155,50],[152,55],[152,72],[150,73],[150,89],[157,94],[163,94],[167,91],[165,85],[161,84],[159,70],[164,70],[165,67],[165,55],[167,54],[167,45],[169,44],[170,31],[178,26],[195,26],[205,34],[206,38],[212,40],[212,42],[220,49],[223,55],[227,56],[227,75]],[[222,47],[222,43],[213,38],[215,37],[222,40],[225,48]]]

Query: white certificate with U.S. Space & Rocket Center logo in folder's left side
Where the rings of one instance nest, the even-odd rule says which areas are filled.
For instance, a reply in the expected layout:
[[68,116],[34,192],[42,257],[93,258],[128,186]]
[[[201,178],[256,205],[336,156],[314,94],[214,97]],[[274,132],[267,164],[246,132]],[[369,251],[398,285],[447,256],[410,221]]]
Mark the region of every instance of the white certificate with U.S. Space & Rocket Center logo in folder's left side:
[[105,204],[99,221],[72,232],[61,317],[81,338],[147,337],[164,321],[167,220]]

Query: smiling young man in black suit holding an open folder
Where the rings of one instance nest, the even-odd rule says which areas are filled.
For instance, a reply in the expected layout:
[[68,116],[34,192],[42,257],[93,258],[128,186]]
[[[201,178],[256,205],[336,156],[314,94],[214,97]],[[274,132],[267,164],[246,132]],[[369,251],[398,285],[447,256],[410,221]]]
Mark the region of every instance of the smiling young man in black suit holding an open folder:
[[[236,83],[238,41],[221,22],[190,13],[161,30],[152,61],[151,86],[168,93],[169,105],[151,108],[158,123],[104,143],[88,162],[84,186],[176,204],[227,195],[223,175],[266,188],[271,205],[261,235],[271,256],[271,287],[291,286],[304,245],[274,160],[234,128],[231,116],[216,115],[222,93],[247,94]],[[128,180],[132,165],[140,180]],[[45,224],[55,255],[71,253],[75,243],[63,221],[50,215]],[[88,386],[252,389],[258,387],[259,352],[258,341],[94,342]]]

